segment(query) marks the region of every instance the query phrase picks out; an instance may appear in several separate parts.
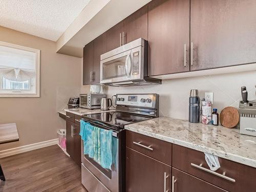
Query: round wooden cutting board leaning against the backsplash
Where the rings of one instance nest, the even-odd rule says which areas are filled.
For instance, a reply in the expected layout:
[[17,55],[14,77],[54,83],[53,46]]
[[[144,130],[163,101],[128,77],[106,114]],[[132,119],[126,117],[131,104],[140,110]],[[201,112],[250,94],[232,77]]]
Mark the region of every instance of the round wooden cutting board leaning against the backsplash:
[[221,111],[220,122],[227,128],[233,128],[239,123],[239,112],[236,108],[228,106]]

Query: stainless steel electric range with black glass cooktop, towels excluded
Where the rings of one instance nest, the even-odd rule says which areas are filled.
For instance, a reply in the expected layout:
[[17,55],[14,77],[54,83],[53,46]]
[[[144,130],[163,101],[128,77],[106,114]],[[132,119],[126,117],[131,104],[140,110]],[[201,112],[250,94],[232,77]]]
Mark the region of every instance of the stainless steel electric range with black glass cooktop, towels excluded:
[[83,115],[82,119],[101,129],[113,130],[113,164],[101,167],[82,153],[82,184],[89,192],[125,191],[125,130],[124,125],[159,116],[158,94],[117,94],[116,111]]

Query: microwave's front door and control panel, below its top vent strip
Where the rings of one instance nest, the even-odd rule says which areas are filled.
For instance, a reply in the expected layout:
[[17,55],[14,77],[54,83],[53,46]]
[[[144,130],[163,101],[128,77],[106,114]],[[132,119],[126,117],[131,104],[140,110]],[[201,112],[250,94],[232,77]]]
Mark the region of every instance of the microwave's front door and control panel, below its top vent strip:
[[144,49],[139,46],[100,61],[100,83],[143,78]]

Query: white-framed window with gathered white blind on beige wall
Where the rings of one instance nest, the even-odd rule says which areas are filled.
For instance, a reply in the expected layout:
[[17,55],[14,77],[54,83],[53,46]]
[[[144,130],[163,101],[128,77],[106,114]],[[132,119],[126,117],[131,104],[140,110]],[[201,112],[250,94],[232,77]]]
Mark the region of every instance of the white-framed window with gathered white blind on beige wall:
[[39,97],[40,51],[0,41],[0,97]]

